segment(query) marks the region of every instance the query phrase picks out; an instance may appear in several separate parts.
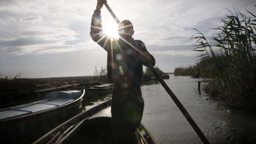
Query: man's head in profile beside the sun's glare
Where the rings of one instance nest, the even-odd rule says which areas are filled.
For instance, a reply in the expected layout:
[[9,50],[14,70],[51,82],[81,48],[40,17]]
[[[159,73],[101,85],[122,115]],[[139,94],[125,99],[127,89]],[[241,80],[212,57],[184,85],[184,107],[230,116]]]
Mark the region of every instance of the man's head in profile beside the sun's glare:
[[123,20],[119,23],[118,34],[122,38],[130,38],[134,34],[133,25],[129,20]]

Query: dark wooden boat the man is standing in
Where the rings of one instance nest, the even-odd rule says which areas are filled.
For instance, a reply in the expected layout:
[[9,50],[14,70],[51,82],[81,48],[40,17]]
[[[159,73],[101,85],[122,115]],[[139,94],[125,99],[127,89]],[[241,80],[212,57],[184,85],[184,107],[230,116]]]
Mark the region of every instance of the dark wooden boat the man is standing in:
[[[49,131],[33,144],[112,144],[111,100],[84,111]],[[157,144],[141,123],[136,131],[138,144]]]

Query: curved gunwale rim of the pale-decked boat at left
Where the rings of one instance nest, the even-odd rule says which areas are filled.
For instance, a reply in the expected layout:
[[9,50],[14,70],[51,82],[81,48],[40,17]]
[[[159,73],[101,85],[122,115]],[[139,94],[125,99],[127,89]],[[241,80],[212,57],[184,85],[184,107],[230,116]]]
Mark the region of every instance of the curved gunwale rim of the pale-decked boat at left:
[[49,112],[49,111],[52,111],[52,110],[55,110],[55,109],[59,109],[61,107],[64,107],[64,106],[67,106],[67,105],[72,104],[74,102],[77,102],[80,99],[83,99],[84,94],[85,94],[85,89],[83,89],[83,93],[82,93],[82,95],[79,98],[74,99],[73,101],[68,102],[66,104],[63,104],[63,105],[60,105],[60,106],[56,106],[56,107],[53,107],[53,108],[50,108],[50,109],[38,111],[38,112],[35,112],[35,113],[30,113],[30,114],[24,113],[22,115],[17,115],[17,116],[14,116],[14,117],[3,118],[3,119],[0,120],[0,122],[6,122],[6,121],[9,121],[9,120],[16,120],[16,119],[19,119],[19,118],[30,117],[30,116],[33,116],[33,115],[37,115],[39,113],[45,113],[45,112]]

